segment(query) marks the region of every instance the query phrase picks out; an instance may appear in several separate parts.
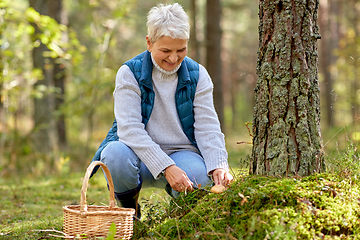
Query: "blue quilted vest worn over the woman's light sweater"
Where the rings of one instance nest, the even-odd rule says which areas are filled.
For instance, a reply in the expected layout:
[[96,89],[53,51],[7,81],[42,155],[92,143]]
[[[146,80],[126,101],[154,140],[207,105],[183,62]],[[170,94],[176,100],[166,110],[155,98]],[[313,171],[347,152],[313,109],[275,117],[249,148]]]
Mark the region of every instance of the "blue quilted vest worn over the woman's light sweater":
[[[150,119],[152,109],[154,107],[155,92],[152,86],[152,70],[153,63],[149,51],[145,51],[136,57],[124,63],[133,72],[135,79],[139,83],[141,91],[141,115],[142,123],[146,126]],[[196,92],[196,86],[199,80],[199,64],[194,60],[185,57],[178,70],[178,85],[175,92],[175,103],[177,113],[179,115],[182,129],[196,147],[194,134],[194,109],[193,102]],[[100,144],[95,156],[91,161],[99,161],[102,150],[112,141],[118,141],[116,119],[113,126],[109,130],[103,142]],[[99,166],[95,167],[92,175],[96,173]]]

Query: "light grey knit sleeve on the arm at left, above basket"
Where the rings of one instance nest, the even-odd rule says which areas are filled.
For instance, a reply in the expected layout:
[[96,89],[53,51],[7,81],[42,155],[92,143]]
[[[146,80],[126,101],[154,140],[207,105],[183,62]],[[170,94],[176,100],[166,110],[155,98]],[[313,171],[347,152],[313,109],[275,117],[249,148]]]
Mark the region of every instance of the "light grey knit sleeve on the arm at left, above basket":
[[139,84],[126,65],[121,66],[116,75],[113,96],[119,140],[135,152],[157,179],[162,170],[175,163],[145,130]]

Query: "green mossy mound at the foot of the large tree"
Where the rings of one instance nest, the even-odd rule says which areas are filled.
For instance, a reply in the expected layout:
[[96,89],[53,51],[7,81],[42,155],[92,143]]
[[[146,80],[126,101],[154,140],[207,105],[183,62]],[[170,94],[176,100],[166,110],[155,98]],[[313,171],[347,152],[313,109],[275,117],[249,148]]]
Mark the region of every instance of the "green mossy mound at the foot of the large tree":
[[134,239],[360,239],[356,178],[246,176],[224,193],[147,205]]

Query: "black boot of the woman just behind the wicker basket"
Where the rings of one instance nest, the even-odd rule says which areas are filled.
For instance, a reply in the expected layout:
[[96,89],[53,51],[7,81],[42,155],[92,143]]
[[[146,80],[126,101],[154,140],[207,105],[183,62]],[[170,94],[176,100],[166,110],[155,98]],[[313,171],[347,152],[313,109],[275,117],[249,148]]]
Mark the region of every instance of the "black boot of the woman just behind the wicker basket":
[[142,180],[140,178],[140,184],[135,189],[123,193],[115,193],[116,201],[120,207],[135,209],[137,220],[141,218],[140,204],[138,203],[141,186]]

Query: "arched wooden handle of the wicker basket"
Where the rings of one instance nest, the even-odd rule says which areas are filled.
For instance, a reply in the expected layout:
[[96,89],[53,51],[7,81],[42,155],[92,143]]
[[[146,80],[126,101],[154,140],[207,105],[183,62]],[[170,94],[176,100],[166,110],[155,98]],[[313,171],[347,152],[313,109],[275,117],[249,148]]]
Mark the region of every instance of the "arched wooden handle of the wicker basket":
[[106,178],[108,180],[108,184],[109,184],[109,191],[110,191],[110,202],[109,202],[109,207],[110,209],[115,207],[115,193],[114,193],[114,183],[112,181],[112,177],[110,174],[110,171],[108,169],[108,167],[100,161],[93,161],[89,167],[86,169],[86,173],[85,173],[85,177],[84,177],[84,182],[81,188],[81,197],[80,197],[80,212],[84,213],[87,211],[87,205],[86,205],[86,191],[87,191],[87,187],[88,187],[88,182],[91,176],[91,173],[93,171],[93,169],[100,165],[102,167],[102,169],[105,172]]

